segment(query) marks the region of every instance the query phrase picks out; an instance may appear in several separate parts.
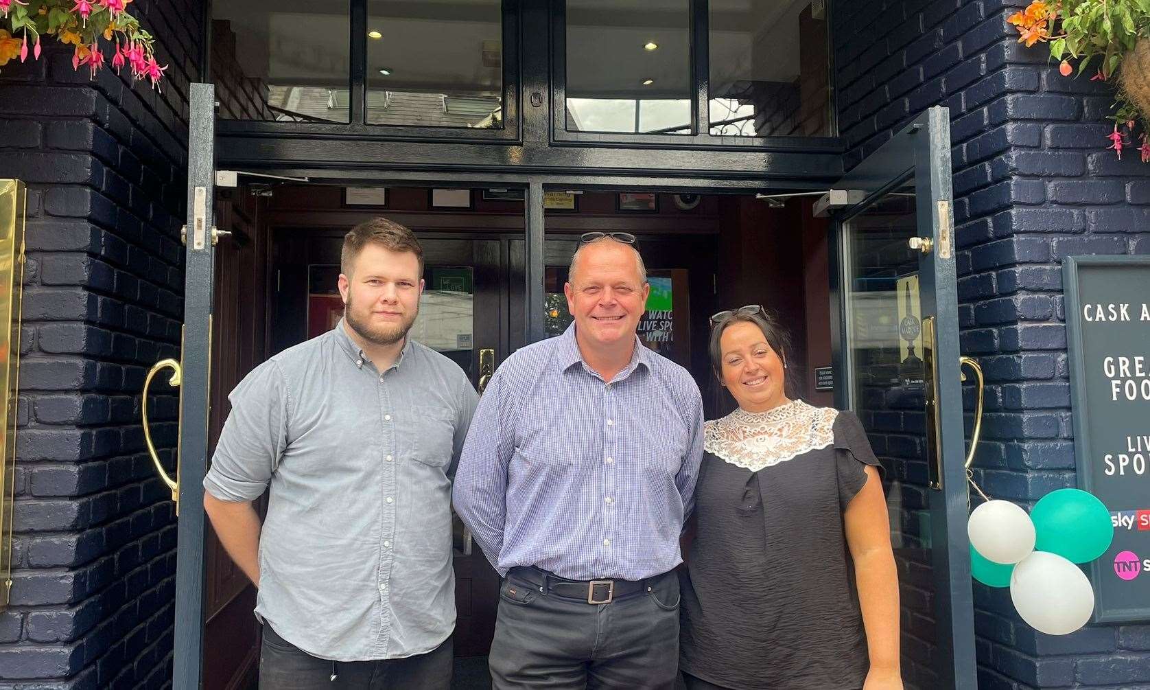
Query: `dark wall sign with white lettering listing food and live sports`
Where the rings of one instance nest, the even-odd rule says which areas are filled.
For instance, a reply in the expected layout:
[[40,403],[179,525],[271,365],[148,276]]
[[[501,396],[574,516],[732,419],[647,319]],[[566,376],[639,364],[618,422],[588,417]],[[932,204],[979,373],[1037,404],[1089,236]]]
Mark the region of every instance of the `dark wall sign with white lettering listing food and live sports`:
[[1079,488],[1110,509],[1095,622],[1150,621],[1150,256],[1063,264]]

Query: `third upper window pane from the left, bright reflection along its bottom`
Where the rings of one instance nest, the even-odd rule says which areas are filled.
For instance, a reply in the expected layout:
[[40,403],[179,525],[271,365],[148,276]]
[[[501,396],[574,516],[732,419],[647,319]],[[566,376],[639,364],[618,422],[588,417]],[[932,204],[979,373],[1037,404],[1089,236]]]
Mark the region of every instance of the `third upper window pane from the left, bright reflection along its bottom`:
[[567,129],[691,133],[689,0],[567,0]]

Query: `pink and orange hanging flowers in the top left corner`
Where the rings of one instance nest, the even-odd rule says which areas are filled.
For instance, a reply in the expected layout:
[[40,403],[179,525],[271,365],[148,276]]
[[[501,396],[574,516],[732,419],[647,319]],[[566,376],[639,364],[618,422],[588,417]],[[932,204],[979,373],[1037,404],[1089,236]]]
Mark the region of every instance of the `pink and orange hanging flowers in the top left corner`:
[[[0,0],[0,67],[40,57],[45,37],[71,45],[72,67],[92,77],[108,62],[118,74],[129,67],[133,79],[159,89],[167,66],[155,61],[155,39],[128,14],[132,0]],[[109,57],[110,56],[110,57]]]

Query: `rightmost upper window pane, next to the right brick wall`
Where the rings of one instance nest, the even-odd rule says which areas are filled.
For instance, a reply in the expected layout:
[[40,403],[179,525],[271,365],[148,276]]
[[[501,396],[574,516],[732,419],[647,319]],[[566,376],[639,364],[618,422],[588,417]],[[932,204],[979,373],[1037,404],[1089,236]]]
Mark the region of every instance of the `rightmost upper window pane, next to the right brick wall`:
[[[711,133],[830,136],[825,9],[810,0],[712,0]],[[820,3],[826,7],[826,3]]]

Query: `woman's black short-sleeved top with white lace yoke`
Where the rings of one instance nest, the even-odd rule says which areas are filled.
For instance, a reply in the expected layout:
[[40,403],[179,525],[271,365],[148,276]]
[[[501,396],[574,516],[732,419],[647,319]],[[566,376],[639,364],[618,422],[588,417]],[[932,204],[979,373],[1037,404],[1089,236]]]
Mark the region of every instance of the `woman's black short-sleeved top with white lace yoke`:
[[680,668],[736,690],[861,688],[843,513],[879,466],[851,412],[795,400],[705,425]]

